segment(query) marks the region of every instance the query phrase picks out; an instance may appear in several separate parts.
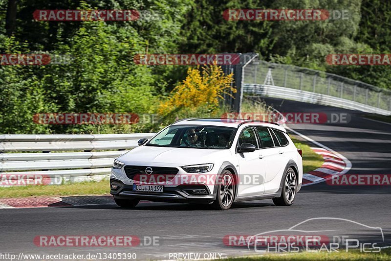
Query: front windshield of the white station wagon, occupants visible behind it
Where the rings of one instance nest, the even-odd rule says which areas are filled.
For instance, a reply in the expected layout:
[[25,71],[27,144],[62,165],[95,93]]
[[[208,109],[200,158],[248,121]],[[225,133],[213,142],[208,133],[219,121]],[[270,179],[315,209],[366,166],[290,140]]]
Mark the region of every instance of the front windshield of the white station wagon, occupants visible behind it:
[[172,125],[146,143],[146,146],[228,149],[236,130],[222,126]]

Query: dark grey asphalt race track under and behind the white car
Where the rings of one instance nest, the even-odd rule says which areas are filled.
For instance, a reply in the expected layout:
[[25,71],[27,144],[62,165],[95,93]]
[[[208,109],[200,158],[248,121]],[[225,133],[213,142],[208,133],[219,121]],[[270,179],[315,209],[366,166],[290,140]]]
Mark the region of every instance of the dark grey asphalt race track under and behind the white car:
[[[348,173],[391,174],[391,125],[364,119],[362,113],[334,107],[267,99],[281,112],[348,113],[351,121],[336,124],[290,124],[290,128],[341,153],[352,163]],[[0,210],[1,252],[23,254],[136,253],[137,260],[174,259],[170,253],[217,253],[221,257],[256,254],[254,249],[224,245],[226,235],[255,235],[288,229],[306,219],[349,219],[381,227],[385,245],[391,245],[390,186],[304,187],[291,207],[276,207],[271,200],[234,204],[229,211],[209,206],[141,203],[134,210],[116,205]],[[351,237],[377,237],[377,231],[333,219],[311,221],[305,229],[340,227]],[[39,235],[135,235],[159,237],[159,245],[116,247],[38,247]],[[141,242],[143,243],[143,241]]]

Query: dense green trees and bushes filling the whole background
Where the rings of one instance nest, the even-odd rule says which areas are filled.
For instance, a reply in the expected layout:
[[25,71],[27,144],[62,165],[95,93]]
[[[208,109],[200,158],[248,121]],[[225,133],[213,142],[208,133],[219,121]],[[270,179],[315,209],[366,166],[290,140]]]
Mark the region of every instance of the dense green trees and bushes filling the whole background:
[[[0,0],[0,53],[72,56],[69,64],[0,66],[0,133],[121,133],[152,124],[42,125],[37,113],[155,113],[186,78],[185,66],[135,65],[137,53],[258,52],[268,61],[329,71],[383,88],[386,66],[328,66],[329,53],[390,53],[391,3],[384,0],[19,0],[15,28]],[[136,9],[130,22],[38,22],[36,9]],[[226,21],[233,8],[348,10],[348,20]]]

